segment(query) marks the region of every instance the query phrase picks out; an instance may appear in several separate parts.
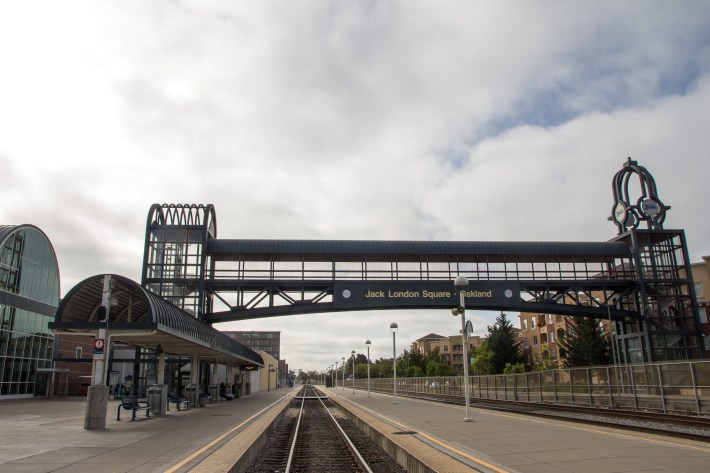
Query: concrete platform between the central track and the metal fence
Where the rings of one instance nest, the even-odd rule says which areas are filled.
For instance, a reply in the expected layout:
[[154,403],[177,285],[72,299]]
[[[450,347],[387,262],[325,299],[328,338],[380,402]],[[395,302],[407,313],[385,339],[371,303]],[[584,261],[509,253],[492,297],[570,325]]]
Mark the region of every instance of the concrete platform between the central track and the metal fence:
[[697,473],[710,469],[710,442],[562,419],[434,403],[347,387],[328,388],[341,404],[364,410],[433,445],[474,471],[520,473]]

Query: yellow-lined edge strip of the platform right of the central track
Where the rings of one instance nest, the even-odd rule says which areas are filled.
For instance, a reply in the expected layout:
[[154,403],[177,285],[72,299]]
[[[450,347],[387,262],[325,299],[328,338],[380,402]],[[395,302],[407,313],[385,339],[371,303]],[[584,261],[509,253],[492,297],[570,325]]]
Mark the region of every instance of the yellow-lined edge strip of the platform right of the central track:
[[[353,416],[360,419],[365,424],[368,424],[372,429],[378,432],[380,435],[386,437],[389,442],[394,443],[404,450],[412,458],[419,460],[426,468],[417,468],[416,471],[429,471],[434,472],[446,472],[446,473],[458,473],[458,472],[471,472],[471,471],[487,471],[495,473],[508,473],[508,470],[500,468],[493,465],[482,458],[475,457],[469,453],[462,452],[456,448],[444,444],[443,442],[431,437],[425,433],[417,432],[411,435],[399,435],[393,433],[394,428],[400,429],[400,432],[411,432],[412,429],[403,425],[392,419],[388,419],[380,414],[369,411],[368,409],[362,408],[352,401],[333,396],[332,400],[341,406],[345,411],[350,412]],[[443,448],[445,451],[450,452],[450,454],[444,453],[442,450],[437,449],[431,445],[434,443],[439,447]],[[382,446],[382,445],[381,445]],[[383,447],[384,448],[384,447]],[[385,450],[388,450],[385,448]],[[388,453],[392,453],[389,451]],[[460,460],[450,456],[458,456],[460,458],[465,458],[469,462],[475,463],[478,468],[473,468]],[[402,460],[404,458],[396,458],[397,462],[402,465],[407,471],[415,471],[414,465],[403,464]]]

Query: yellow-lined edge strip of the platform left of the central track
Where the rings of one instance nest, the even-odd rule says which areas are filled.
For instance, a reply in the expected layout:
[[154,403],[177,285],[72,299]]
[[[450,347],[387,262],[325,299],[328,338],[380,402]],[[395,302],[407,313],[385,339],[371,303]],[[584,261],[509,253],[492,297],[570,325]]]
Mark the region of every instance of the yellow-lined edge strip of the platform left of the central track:
[[[237,463],[249,451],[251,446],[259,440],[264,431],[274,423],[291,401],[291,395],[286,395],[271,404],[270,406],[257,412],[244,422],[233,427],[221,436],[214,439],[201,449],[184,458],[178,464],[166,470],[165,473],[175,473],[181,471],[191,462],[196,461],[201,456],[205,455],[210,449],[219,445],[214,451],[209,453],[209,456],[202,460],[197,466],[190,471],[195,473],[217,473],[233,471]],[[246,427],[245,427],[246,426]],[[228,437],[230,439],[226,440]]]

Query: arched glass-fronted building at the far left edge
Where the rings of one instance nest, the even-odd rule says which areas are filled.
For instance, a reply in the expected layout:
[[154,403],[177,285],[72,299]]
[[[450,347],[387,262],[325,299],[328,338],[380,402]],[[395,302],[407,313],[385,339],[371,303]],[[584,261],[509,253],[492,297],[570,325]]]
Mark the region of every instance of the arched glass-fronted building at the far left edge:
[[[0,398],[45,395],[59,306],[59,265],[32,225],[0,225]],[[44,370],[44,371],[43,371]]]

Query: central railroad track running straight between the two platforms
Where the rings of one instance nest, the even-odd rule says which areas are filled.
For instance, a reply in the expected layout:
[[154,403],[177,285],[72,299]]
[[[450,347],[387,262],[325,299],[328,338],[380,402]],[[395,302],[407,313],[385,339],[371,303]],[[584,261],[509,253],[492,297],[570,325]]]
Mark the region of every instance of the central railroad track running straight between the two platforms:
[[404,471],[333,409],[326,396],[305,386],[247,473]]

